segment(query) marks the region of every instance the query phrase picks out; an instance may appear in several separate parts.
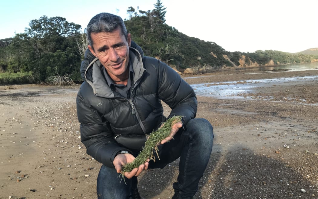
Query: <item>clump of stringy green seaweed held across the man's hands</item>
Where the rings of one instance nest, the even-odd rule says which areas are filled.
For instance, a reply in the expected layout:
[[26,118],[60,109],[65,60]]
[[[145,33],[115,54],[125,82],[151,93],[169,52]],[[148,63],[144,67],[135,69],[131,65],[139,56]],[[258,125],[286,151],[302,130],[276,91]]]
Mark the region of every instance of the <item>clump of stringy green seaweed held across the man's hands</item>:
[[121,169],[122,176],[125,172],[131,172],[134,168],[138,168],[144,164],[148,159],[156,161],[154,152],[156,152],[158,159],[158,144],[165,138],[170,136],[172,126],[181,121],[183,116],[173,116],[162,123],[162,126],[150,133],[149,138],[145,142],[145,146],[142,151],[138,154],[134,161],[124,165]]

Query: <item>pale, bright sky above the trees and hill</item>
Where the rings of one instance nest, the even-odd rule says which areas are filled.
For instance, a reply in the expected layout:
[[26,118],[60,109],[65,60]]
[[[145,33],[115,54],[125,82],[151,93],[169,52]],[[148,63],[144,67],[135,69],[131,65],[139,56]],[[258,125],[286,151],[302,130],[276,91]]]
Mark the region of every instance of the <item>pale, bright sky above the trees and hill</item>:
[[[128,18],[128,7],[153,10],[157,0],[1,1],[0,39],[24,32],[32,19],[63,17],[82,26],[100,12]],[[93,4],[96,2],[96,4]],[[278,50],[296,53],[318,48],[318,0],[161,0],[166,24],[226,51]],[[132,38],[134,36],[132,35]]]

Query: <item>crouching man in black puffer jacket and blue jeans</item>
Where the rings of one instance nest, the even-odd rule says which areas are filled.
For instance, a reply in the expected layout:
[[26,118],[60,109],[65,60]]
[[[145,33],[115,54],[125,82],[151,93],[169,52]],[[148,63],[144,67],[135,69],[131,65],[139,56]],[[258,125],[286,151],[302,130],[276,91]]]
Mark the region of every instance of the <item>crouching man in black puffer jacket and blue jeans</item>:
[[[109,13],[94,16],[87,25],[89,51],[81,65],[84,79],[77,103],[81,141],[87,154],[103,165],[97,178],[99,199],[140,198],[137,176],[148,168],[163,168],[180,157],[172,198],[192,198],[209,161],[213,128],[197,119],[193,89],[172,68],[143,55],[123,20]],[[146,161],[125,182],[118,179],[123,165],[142,150],[147,135],[166,120],[161,100],[181,115],[169,137],[158,146],[159,159]]]

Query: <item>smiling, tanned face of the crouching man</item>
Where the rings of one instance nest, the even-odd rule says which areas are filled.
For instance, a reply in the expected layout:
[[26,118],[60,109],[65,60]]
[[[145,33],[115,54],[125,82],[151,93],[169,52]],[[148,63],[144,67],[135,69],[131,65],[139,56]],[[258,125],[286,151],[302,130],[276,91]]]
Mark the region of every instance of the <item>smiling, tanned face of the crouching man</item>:
[[114,80],[125,77],[129,61],[130,33],[126,40],[119,27],[113,32],[92,33],[91,38],[93,46],[89,45],[88,48],[106,68],[108,75]]

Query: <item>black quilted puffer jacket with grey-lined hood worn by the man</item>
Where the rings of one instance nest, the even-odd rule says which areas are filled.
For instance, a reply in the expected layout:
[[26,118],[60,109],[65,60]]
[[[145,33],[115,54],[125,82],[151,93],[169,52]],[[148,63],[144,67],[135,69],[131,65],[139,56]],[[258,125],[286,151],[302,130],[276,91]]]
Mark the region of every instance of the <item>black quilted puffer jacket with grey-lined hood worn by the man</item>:
[[[76,98],[81,141],[87,154],[107,167],[114,167],[112,162],[118,152],[132,150],[129,146],[135,138],[144,138],[138,143],[137,148],[141,148],[145,134],[165,120],[161,100],[172,109],[169,117],[182,115],[185,124],[197,112],[193,89],[172,68],[143,56],[142,49],[134,42],[129,61],[135,72],[130,99],[109,88],[101,73],[103,66],[90,52],[86,51],[81,65],[85,81]],[[125,139],[119,142],[116,136]]]

